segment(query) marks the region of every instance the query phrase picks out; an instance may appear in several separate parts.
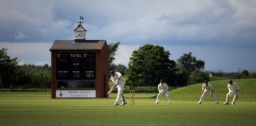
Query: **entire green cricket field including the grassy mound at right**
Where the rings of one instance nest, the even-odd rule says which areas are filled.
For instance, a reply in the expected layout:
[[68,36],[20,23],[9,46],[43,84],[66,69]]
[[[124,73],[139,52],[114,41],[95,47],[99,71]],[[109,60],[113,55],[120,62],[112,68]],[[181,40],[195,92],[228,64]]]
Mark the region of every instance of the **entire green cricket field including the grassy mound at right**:
[[[136,94],[136,106],[130,106],[130,94],[124,94],[128,104],[113,106],[110,98],[51,99],[48,93],[0,92],[0,124],[2,126],[156,126],[156,125],[255,125],[255,80],[235,80],[241,85],[235,106],[224,106],[226,81],[212,82],[220,105],[206,96],[198,105],[201,83],[171,91],[172,104],[165,96],[155,106],[155,94]],[[250,88],[251,87],[251,88]],[[198,89],[199,88],[199,89]],[[222,89],[223,88],[223,89]],[[243,93],[242,93],[243,92]],[[248,98],[247,98],[248,97]],[[208,98],[208,99],[207,99]]]

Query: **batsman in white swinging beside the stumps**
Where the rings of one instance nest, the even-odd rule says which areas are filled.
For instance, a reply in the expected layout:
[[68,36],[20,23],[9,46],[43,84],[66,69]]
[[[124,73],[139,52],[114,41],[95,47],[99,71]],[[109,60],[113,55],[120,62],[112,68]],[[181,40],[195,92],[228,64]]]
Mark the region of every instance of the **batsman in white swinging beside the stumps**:
[[124,85],[125,85],[122,82],[122,74],[120,72],[111,71],[111,80],[114,82],[114,84],[118,88],[118,94],[116,96],[114,106],[119,106],[120,98],[121,98],[121,101],[122,101],[122,106],[126,105],[126,101],[125,101],[125,99],[122,95],[122,91],[123,91],[123,88],[124,88]]

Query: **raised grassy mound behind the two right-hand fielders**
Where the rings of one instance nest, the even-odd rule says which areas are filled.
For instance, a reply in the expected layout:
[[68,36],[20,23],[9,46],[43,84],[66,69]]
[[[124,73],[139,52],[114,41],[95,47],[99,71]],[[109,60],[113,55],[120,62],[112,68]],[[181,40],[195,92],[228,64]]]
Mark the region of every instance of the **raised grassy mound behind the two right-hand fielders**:
[[[256,102],[256,80],[255,79],[247,79],[247,80],[234,80],[236,83],[240,85],[239,90],[239,101],[254,101]],[[226,94],[228,93],[228,80],[220,80],[209,82],[215,88],[215,95],[219,101],[223,101],[226,98]],[[198,83],[194,85],[190,85],[188,87],[182,87],[176,89],[174,91],[170,91],[171,98],[174,100],[181,101],[198,101],[201,97],[202,91],[201,86],[203,83]],[[210,95],[206,95],[205,101],[213,101],[213,98]]]

